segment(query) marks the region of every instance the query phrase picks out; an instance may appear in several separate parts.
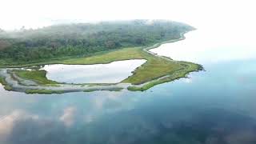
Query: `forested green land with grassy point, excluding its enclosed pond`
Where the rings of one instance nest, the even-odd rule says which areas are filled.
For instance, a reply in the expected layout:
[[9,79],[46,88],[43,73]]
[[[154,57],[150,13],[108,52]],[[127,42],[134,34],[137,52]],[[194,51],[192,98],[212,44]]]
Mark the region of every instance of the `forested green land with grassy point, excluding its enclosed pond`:
[[[48,26],[0,33],[0,82],[6,90],[27,94],[62,94],[97,90],[143,91],[202,70],[193,62],[175,61],[150,52],[185,39],[194,27],[180,22],[134,20]],[[46,78],[48,64],[93,65],[144,59],[118,83],[63,83]]]

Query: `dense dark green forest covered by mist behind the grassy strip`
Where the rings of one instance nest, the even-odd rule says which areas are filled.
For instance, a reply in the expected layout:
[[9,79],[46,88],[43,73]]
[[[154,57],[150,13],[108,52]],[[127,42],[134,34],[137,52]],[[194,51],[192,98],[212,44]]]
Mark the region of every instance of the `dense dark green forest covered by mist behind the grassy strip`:
[[180,22],[134,20],[47,26],[6,32],[0,29],[0,59],[31,62],[78,57],[128,46],[146,46],[194,28]]

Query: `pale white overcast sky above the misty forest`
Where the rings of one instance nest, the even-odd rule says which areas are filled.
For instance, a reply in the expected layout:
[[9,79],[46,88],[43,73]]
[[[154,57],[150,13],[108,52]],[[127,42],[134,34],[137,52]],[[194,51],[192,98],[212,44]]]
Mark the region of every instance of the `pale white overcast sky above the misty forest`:
[[256,24],[255,6],[254,0],[1,0],[0,28],[141,18],[248,28]]

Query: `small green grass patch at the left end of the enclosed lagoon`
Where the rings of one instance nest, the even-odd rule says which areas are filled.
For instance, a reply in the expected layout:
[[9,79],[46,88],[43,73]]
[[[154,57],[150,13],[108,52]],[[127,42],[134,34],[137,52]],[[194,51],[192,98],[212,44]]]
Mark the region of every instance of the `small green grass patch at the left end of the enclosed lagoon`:
[[46,78],[46,70],[14,70],[14,73],[20,78],[33,80],[40,85],[53,86],[58,84],[58,82]]

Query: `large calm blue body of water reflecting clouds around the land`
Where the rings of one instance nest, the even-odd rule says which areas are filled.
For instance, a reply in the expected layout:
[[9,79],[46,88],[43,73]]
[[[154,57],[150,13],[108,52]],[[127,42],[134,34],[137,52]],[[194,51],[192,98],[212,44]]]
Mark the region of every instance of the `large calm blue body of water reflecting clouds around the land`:
[[255,44],[213,35],[195,30],[153,50],[206,71],[145,92],[32,95],[1,86],[0,143],[255,144]]

